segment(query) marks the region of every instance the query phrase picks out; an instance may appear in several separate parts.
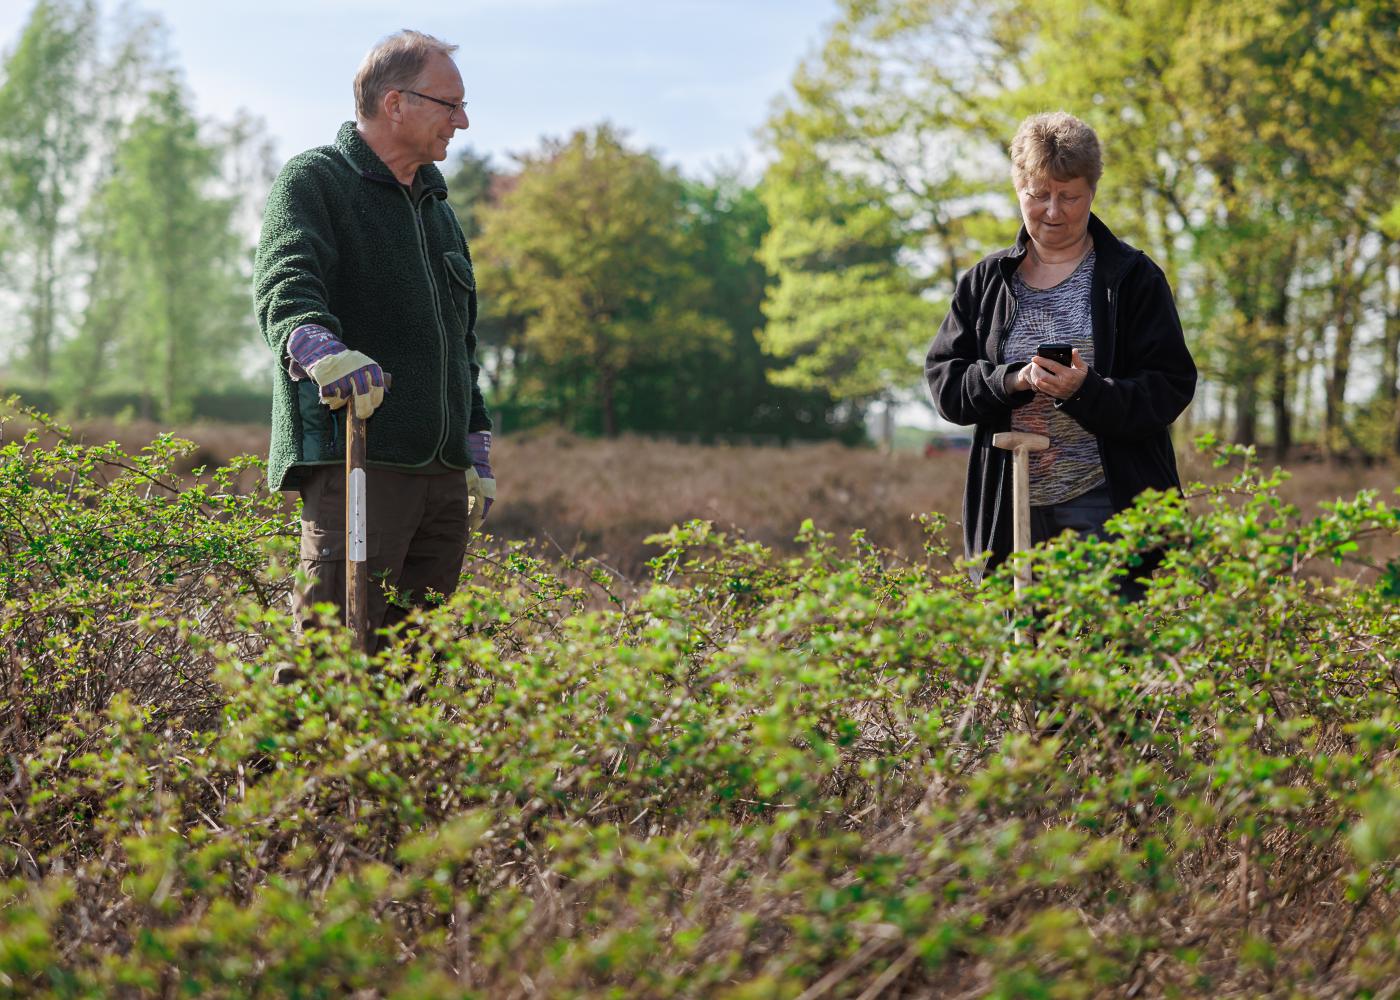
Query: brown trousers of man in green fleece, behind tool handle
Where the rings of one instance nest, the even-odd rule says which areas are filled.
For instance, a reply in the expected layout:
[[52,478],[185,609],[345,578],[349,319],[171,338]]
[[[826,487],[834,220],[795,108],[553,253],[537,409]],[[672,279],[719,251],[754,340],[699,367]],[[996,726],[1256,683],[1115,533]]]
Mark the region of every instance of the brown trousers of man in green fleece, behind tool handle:
[[[365,469],[370,634],[402,622],[430,592],[456,590],[466,555],[468,493],[462,472],[413,475]],[[301,487],[301,569],[309,583],[293,590],[291,613],[305,629],[318,604],[333,604],[344,623],[346,472],[312,468]],[[391,604],[385,587],[396,591]],[[371,647],[378,640],[371,639]]]

